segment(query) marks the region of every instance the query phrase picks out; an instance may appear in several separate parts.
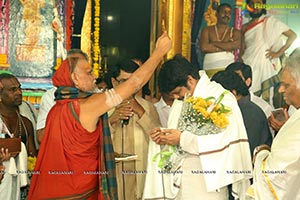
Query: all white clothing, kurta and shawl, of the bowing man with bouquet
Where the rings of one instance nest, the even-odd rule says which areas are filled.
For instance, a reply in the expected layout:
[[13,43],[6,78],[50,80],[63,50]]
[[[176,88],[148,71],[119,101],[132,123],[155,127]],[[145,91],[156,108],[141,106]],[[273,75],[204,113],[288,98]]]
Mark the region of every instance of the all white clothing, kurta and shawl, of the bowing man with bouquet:
[[[200,71],[201,79],[197,83],[193,96],[216,97],[218,98],[225,90],[220,84],[210,82],[204,71]],[[235,97],[230,93],[225,95],[222,103],[232,109],[229,116],[229,126],[225,131],[219,134],[197,136],[188,131],[183,131],[180,137],[180,146],[187,152],[182,163],[180,171],[175,176],[162,176],[157,173],[157,163],[150,163],[159,148],[149,149],[148,169],[146,178],[146,188],[144,199],[153,199],[162,197],[163,192],[168,198],[177,200],[194,200],[194,199],[228,199],[227,185],[234,184],[235,192],[239,193],[240,199],[243,199],[245,188],[241,189],[242,184],[251,177],[252,164],[249,150],[249,143],[243,119]],[[176,101],[170,111],[168,125],[176,123],[180,116],[180,109],[173,109],[177,106]],[[171,123],[170,120],[174,120]],[[168,128],[174,128],[169,127]],[[151,168],[152,167],[152,168]],[[168,181],[166,183],[165,181]],[[178,182],[180,180],[180,182]],[[151,183],[152,181],[152,183]],[[165,188],[159,189],[157,185],[165,182]],[[153,184],[155,182],[155,184]],[[179,190],[174,187],[173,183],[179,184]],[[166,188],[166,185],[169,187]],[[154,185],[151,187],[151,185]]]

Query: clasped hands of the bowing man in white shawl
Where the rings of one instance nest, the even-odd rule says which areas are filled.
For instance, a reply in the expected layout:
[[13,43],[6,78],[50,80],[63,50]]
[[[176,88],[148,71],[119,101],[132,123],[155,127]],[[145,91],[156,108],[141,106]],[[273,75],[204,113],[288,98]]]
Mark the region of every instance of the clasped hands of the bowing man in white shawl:
[[159,145],[178,145],[180,142],[181,132],[176,129],[155,128],[151,132],[151,139]]

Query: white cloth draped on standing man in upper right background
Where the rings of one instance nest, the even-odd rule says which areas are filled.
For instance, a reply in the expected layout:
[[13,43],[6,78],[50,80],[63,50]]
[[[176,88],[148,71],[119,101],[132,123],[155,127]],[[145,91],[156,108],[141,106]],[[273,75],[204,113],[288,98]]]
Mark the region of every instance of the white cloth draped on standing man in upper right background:
[[[251,26],[251,25],[250,25]],[[289,27],[272,16],[259,18],[258,23],[249,27],[245,33],[246,49],[243,55],[243,61],[252,68],[252,86],[250,88],[254,93],[261,89],[268,89],[273,86],[272,80],[280,70],[279,58],[266,58],[266,51],[278,51],[283,46],[281,35],[288,31]],[[265,81],[270,80],[266,86],[262,86]],[[264,87],[264,88],[262,88]]]

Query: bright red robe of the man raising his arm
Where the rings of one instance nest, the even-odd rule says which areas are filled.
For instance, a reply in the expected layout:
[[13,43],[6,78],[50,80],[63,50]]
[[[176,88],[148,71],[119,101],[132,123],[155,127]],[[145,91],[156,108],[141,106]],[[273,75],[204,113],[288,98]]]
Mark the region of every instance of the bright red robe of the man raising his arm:
[[[102,125],[88,132],[71,112],[79,116],[78,100],[59,100],[50,110],[31,180],[29,200],[44,198],[102,199],[98,185],[99,141]],[[94,172],[94,174],[90,174]],[[92,195],[92,196],[91,196]]]

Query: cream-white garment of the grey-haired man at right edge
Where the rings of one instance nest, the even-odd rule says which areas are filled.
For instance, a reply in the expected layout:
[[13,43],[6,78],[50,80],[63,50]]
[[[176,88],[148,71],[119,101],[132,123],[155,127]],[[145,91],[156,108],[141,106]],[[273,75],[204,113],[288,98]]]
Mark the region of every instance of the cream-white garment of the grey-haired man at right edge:
[[256,156],[253,172],[256,199],[300,199],[299,144],[298,109],[281,127],[273,140],[271,152],[263,150]]

